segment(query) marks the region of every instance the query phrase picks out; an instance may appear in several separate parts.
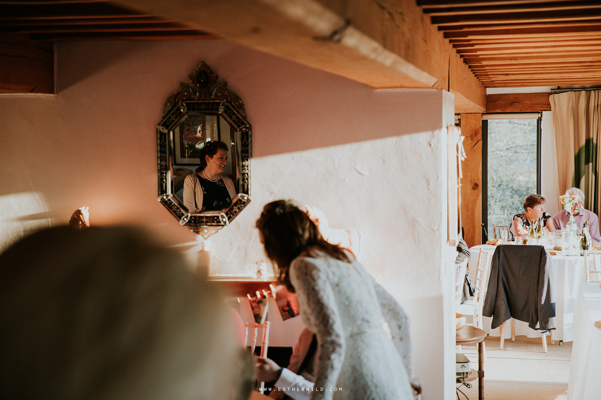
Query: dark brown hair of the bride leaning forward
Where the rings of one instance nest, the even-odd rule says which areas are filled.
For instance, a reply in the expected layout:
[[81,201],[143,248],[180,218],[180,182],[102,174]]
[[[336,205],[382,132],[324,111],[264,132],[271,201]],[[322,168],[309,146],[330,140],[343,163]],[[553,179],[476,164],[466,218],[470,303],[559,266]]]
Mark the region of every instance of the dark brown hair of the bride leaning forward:
[[340,261],[351,262],[344,249],[325,241],[307,213],[285,200],[267,203],[257,219],[257,228],[263,235],[267,257],[278,265],[279,280],[294,292],[288,270],[294,258],[307,253],[319,256],[319,250]]

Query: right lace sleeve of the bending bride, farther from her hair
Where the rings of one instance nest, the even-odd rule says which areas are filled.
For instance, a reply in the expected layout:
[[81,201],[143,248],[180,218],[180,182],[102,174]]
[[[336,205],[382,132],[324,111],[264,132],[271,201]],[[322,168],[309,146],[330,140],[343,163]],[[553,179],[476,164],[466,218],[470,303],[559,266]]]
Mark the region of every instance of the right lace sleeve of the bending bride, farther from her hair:
[[400,354],[403,364],[407,369],[407,376],[413,378],[413,359],[411,356],[411,339],[409,338],[409,318],[397,300],[378,285],[376,280],[371,278],[374,289],[376,290],[377,300],[380,303],[380,309],[384,320],[388,324],[392,342]]

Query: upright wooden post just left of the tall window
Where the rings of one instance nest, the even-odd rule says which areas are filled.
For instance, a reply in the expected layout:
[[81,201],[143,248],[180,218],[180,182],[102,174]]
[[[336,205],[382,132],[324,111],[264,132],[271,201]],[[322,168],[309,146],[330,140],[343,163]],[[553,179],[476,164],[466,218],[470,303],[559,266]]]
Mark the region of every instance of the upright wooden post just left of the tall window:
[[467,155],[462,163],[461,218],[468,247],[481,244],[482,202],[482,114],[461,114],[463,148]]

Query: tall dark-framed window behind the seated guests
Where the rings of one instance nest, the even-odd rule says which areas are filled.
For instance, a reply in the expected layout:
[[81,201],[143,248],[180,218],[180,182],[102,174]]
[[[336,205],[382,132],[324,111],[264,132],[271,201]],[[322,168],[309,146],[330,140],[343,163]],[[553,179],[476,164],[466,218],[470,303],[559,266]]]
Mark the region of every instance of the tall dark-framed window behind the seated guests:
[[482,117],[482,222],[492,239],[493,224],[510,225],[526,196],[540,194],[541,115]]

